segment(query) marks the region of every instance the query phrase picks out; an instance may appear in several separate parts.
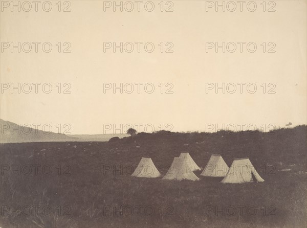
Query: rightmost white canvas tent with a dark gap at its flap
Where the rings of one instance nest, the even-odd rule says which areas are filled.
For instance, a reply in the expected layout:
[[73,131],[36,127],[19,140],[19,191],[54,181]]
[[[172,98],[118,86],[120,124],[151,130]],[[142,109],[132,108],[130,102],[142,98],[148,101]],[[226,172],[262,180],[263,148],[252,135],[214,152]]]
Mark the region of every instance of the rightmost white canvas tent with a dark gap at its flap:
[[236,158],[221,183],[248,183],[253,182],[253,177],[258,182],[265,181],[257,173],[249,158]]

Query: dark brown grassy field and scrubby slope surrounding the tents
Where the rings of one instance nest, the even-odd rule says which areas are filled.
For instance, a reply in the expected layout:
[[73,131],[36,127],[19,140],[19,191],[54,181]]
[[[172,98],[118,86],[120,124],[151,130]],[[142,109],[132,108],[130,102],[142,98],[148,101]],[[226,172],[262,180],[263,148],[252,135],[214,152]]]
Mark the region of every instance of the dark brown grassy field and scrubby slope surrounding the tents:
[[[0,226],[306,227],[306,139],[306,126],[298,126],[2,144]],[[181,152],[202,168],[212,153],[229,166],[249,157],[265,182],[221,184],[201,172],[200,181],[129,176],[142,156],[165,174]]]

